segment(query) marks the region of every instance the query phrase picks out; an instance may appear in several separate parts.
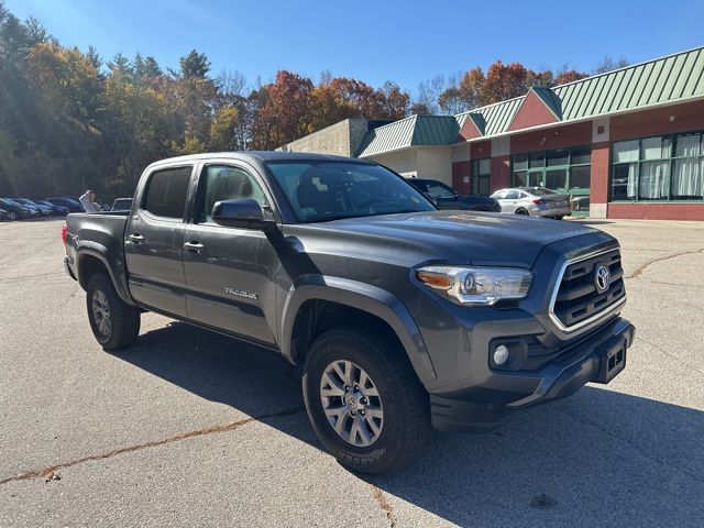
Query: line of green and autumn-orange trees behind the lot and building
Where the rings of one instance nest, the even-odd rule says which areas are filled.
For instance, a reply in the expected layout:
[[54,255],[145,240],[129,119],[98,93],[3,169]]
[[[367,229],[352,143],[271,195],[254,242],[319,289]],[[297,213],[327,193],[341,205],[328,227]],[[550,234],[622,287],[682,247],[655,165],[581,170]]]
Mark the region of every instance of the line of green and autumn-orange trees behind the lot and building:
[[496,62],[421,82],[414,98],[392,81],[375,88],[329,73],[315,81],[280,70],[252,85],[237,70],[212,75],[195,50],[177,69],[140,53],[103,61],[92,47],[63,46],[0,0],[0,196],[88,187],[103,199],[131,196],[142,169],[164,157],[271,150],[346,118],[458,113],[584,76]]

